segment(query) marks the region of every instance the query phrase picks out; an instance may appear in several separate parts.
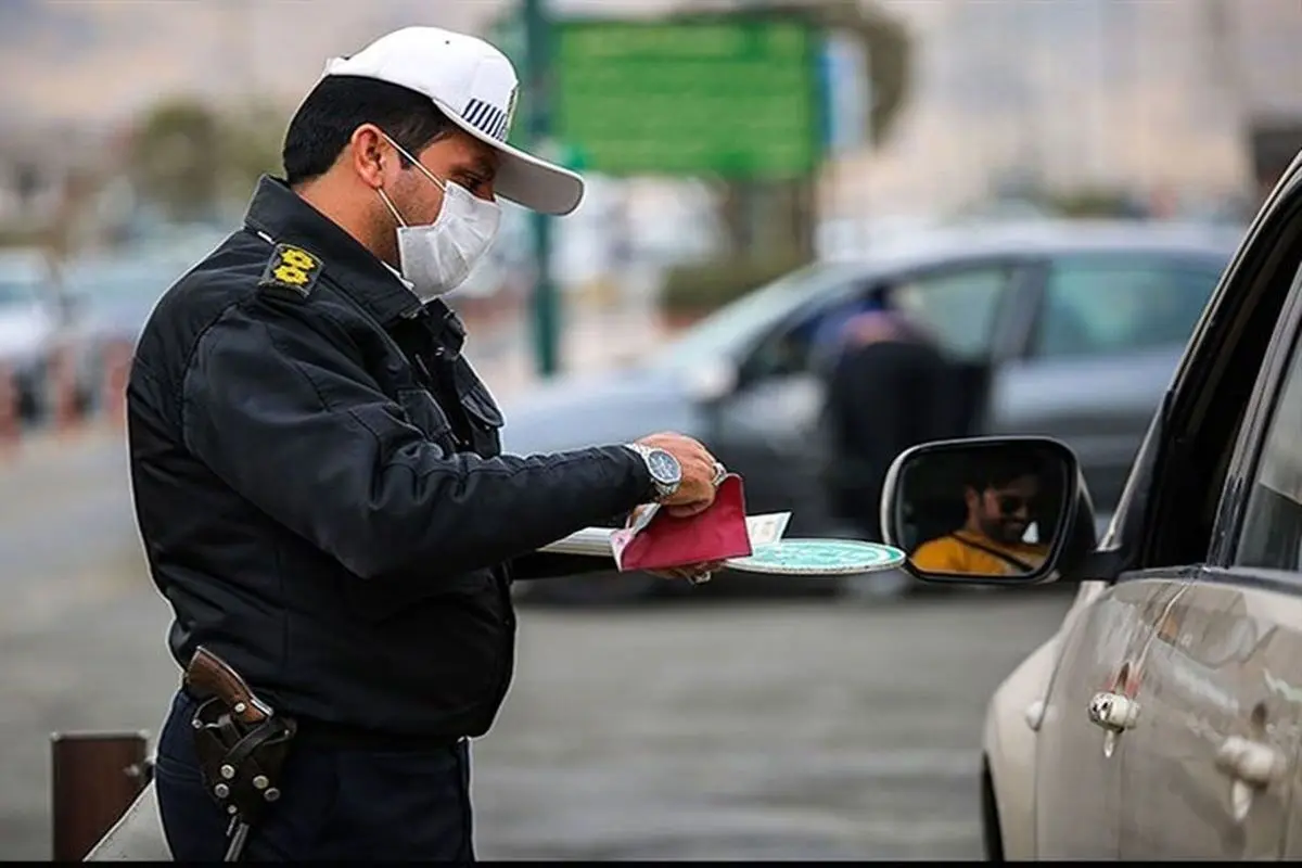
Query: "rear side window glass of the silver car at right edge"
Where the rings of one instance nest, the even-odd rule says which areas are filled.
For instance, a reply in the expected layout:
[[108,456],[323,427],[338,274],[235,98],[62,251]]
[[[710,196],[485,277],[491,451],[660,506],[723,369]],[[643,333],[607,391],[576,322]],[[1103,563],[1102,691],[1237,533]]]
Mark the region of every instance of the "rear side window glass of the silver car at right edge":
[[1294,346],[1249,489],[1234,563],[1302,569],[1302,354]]

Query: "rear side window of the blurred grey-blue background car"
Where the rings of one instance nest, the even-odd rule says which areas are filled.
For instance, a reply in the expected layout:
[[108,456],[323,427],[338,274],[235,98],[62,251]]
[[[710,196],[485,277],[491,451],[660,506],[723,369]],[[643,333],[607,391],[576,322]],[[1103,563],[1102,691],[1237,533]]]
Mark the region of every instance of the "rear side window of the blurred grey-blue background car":
[[1159,258],[1068,259],[1049,267],[1031,354],[1111,355],[1182,346],[1220,271]]

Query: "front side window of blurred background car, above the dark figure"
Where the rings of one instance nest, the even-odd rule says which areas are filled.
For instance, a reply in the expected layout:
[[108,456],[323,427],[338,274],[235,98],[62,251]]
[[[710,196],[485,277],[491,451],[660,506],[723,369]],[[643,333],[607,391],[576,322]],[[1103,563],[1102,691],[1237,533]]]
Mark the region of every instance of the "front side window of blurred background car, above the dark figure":
[[988,358],[1012,267],[980,265],[917,275],[892,290],[892,301],[932,332],[957,358]]

